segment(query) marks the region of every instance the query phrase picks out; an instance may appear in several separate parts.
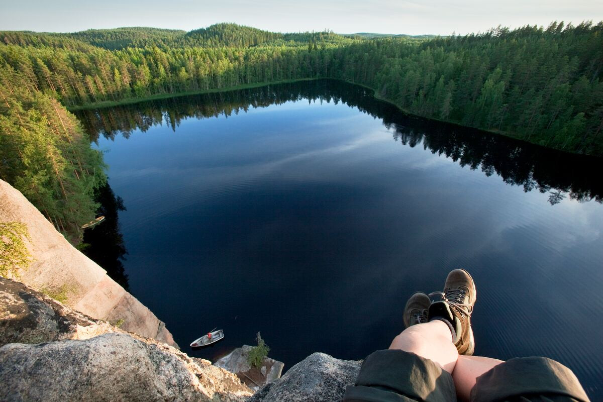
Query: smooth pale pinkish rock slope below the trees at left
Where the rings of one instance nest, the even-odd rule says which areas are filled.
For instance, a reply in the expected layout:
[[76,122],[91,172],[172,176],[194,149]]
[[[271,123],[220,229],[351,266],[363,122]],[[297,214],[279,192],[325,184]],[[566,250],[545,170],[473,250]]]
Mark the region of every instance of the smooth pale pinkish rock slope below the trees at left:
[[103,268],[76,250],[16,189],[0,180],[0,222],[21,222],[33,257],[19,281],[37,291],[62,294],[66,306],[96,319],[177,347],[172,334],[147,307],[112,280]]

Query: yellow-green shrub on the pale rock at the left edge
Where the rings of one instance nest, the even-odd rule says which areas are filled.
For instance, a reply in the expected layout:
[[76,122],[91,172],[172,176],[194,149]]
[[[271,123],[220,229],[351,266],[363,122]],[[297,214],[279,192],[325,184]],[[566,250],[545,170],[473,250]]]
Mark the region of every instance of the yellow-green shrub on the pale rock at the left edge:
[[29,239],[27,227],[21,222],[0,222],[0,276],[18,278],[19,269],[27,269],[31,254],[24,239]]

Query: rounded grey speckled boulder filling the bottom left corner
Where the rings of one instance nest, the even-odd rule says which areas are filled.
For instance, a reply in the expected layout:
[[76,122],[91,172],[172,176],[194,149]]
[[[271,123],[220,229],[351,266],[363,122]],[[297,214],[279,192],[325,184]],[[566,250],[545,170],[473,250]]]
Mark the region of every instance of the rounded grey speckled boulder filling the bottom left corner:
[[124,333],[0,348],[2,401],[223,401],[252,392],[226,370]]

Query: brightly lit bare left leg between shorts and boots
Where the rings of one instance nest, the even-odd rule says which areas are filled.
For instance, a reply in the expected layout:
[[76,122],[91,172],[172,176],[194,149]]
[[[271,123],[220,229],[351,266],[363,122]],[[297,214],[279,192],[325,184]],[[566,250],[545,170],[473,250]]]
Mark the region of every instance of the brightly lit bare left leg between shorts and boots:
[[425,357],[451,374],[459,357],[452,343],[450,328],[439,320],[406,328],[394,338],[390,349],[401,349]]

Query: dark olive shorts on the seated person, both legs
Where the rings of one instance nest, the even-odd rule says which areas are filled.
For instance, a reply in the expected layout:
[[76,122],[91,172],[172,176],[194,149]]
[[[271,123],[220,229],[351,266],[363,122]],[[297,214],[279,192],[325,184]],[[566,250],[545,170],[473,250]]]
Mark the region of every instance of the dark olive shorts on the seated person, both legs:
[[[429,359],[402,350],[379,350],[362,363],[346,402],[456,401],[452,375]],[[546,357],[521,357],[478,377],[472,402],[589,401],[573,372]]]

